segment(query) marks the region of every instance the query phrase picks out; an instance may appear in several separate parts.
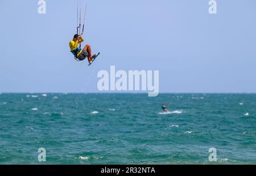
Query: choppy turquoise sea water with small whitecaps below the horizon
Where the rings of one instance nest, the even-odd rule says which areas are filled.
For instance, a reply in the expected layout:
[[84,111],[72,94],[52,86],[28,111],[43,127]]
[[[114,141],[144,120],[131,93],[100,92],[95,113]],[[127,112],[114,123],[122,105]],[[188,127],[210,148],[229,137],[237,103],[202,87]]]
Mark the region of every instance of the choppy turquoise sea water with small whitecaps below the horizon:
[[256,94],[0,94],[0,164],[256,164],[255,102]]

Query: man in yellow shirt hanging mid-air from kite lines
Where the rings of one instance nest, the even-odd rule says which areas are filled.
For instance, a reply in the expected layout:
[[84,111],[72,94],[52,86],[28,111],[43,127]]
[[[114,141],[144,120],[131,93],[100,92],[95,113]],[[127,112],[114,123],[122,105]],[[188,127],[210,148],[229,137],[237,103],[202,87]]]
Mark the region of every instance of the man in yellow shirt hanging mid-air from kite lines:
[[82,43],[84,39],[82,38],[81,35],[76,34],[73,37],[73,40],[69,42],[69,47],[71,49],[71,52],[73,55],[80,61],[84,60],[86,57],[88,58],[89,64],[92,62],[92,59],[96,56],[92,56],[92,50],[90,48],[90,45],[86,45],[84,49],[81,49],[79,47],[79,44]]

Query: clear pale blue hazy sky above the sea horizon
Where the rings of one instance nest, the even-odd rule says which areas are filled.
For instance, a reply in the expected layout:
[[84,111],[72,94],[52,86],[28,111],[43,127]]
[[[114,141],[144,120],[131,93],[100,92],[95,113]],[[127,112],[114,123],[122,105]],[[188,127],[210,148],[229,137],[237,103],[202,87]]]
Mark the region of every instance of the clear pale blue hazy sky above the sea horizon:
[[218,0],[214,15],[208,0],[88,0],[90,67],[69,51],[76,1],[46,2],[0,1],[0,93],[98,92],[110,65],[159,70],[165,93],[256,93],[255,0]]

